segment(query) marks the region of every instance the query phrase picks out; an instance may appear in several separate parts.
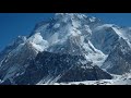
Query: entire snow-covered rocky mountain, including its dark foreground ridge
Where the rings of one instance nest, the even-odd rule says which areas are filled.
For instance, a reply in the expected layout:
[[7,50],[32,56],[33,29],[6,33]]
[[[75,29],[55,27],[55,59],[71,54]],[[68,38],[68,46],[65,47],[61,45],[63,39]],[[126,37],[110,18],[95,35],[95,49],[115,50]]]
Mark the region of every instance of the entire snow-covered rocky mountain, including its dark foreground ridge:
[[57,13],[0,52],[2,84],[110,79],[131,70],[131,28]]

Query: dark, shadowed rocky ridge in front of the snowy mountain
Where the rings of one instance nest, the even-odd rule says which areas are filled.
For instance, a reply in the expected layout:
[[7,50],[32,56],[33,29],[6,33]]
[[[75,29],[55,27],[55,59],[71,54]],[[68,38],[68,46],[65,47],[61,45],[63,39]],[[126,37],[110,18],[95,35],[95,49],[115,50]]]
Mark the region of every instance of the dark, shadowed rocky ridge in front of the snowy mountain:
[[[75,82],[85,79],[110,79],[111,75],[86,62],[84,57],[50,53],[38,53],[25,73],[15,77],[15,84],[53,84],[56,82]],[[78,73],[79,72],[79,73]],[[74,74],[73,74],[74,73]],[[68,74],[68,75],[67,75]],[[83,77],[81,77],[83,76]],[[67,79],[70,78],[70,79]]]

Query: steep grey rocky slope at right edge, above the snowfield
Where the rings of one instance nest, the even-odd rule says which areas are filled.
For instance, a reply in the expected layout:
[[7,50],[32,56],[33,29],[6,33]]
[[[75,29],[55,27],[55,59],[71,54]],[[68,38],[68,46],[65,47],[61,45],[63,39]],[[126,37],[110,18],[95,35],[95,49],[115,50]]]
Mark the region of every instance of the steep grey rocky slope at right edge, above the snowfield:
[[103,69],[114,74],[129,73],[131,70],[131,48],[120,38],[115,49],[110,52],[107,60],[103,64]]

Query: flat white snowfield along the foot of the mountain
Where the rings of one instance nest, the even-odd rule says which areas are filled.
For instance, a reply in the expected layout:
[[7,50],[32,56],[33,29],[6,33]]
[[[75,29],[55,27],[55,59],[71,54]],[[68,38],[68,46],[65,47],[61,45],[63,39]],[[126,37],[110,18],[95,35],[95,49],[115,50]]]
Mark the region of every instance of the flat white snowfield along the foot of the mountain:
[[131,85],[131,75],[114,75],[112,79],[99,79],[99,81],[84,81],[84,82],[67,82],[67,83],[53,83],[53,84],[37,84],[37,85]]

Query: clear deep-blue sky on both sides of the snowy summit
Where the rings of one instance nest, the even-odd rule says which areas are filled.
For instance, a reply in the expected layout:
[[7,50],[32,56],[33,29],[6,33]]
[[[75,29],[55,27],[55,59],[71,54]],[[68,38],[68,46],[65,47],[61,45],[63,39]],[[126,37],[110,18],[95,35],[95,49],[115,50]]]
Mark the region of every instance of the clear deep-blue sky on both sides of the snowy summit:
[[[105,23],[131,26],[131,13],[87,13]],[[19,35],[29,35],[36,23],[52,17],[53,13],[0,13],[0,50]]]

